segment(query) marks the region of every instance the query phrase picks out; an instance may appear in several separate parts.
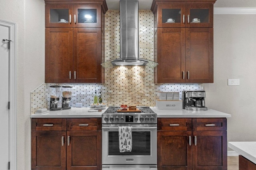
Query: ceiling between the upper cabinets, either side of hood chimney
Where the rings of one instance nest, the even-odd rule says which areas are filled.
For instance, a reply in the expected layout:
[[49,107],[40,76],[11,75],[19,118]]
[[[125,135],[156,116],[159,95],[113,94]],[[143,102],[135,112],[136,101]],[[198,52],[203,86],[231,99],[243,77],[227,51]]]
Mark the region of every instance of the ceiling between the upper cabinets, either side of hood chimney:
[[[153,0],[138,0],[139,10],[150,10]],[[106,0],[108,10],[120,10],[119,0]]]

